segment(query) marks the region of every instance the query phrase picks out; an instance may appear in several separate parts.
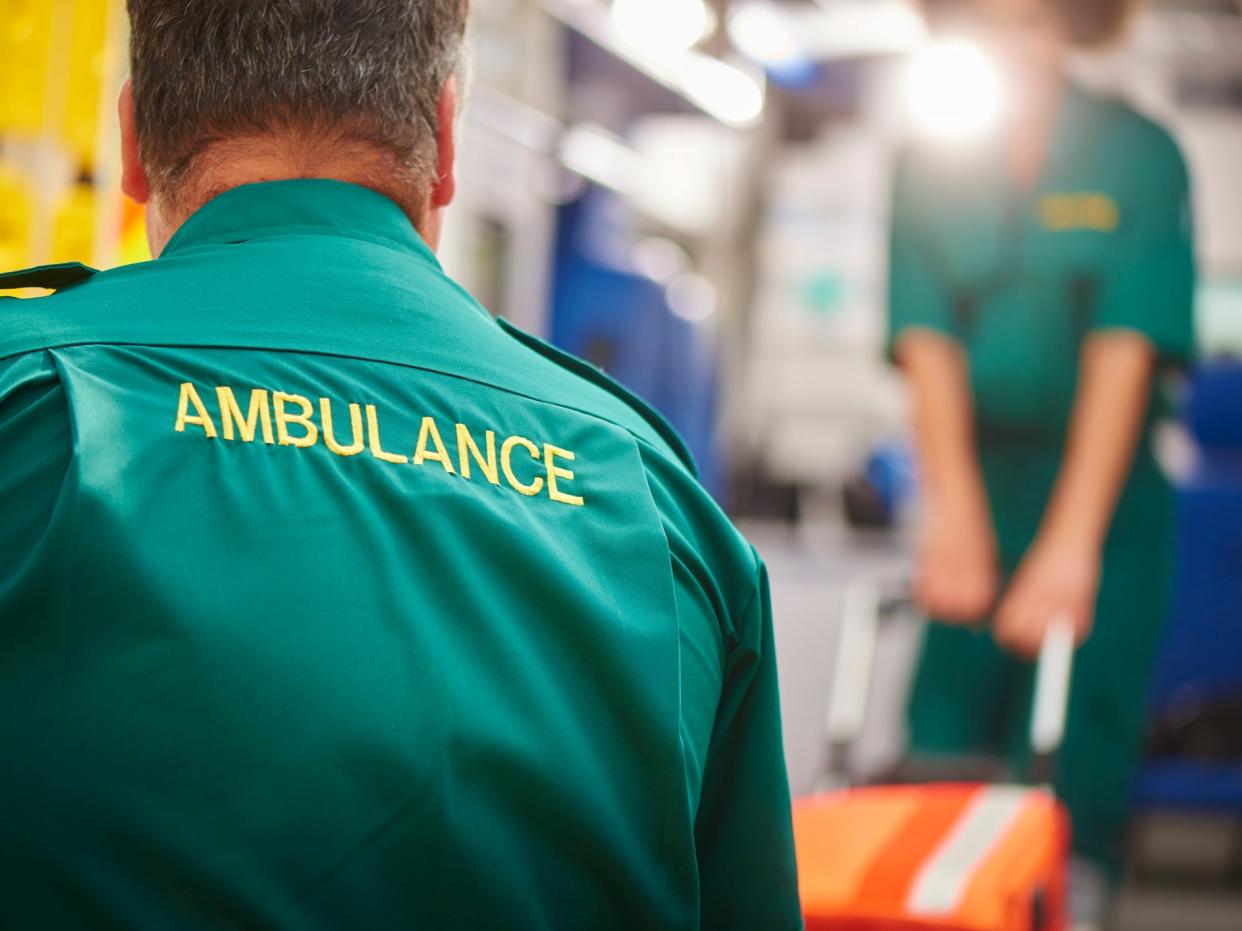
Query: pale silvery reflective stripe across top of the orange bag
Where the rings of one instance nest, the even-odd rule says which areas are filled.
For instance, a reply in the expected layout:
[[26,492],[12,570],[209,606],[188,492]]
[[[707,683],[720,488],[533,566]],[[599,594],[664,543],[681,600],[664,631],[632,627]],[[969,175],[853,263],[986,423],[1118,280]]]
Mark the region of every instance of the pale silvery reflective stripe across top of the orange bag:
[[905,900],[910,915],[953,915],[975,873],[1005,839],[1031,789],[1022,786],[981,788],[958,823],[915,875]]

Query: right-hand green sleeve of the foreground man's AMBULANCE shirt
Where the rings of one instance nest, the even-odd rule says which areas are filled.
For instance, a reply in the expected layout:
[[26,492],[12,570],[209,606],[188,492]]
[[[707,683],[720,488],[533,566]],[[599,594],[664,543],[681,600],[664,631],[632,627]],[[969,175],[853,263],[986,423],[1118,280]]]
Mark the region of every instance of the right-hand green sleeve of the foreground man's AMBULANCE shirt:
[[694,834],[704,929],[801,929],[768,571],[729,650]]

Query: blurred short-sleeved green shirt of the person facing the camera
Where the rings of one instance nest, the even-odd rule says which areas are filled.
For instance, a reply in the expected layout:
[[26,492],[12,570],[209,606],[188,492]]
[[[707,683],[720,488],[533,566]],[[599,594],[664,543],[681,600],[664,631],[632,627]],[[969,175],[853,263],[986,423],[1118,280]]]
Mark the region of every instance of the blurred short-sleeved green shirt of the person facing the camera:
[[[903,158],[889,346],[917,326],[966,350],[980,454],[1009,555],[1030,542],[1056,479],[1086,335],[1135,330],[1164,360],[1185,361],[1194,282],[1185,163],[1164,129],[1120,102],[1067,87],[1032,191],[1015,189],[990,146]],[[1153,483],[1149,446],[1135,467],[1139,485]],[[1138,519],[1135,489],[1131,482],[1114,529]]]

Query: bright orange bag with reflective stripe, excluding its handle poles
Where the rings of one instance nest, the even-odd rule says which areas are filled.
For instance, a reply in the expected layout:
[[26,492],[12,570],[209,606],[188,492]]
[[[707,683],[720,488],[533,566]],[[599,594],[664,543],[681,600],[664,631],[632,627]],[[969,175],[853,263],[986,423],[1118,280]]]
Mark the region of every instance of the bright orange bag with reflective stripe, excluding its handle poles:
[[1022,786],[857,788],[794,804],[806,931],[1064,931],[1069,824]]

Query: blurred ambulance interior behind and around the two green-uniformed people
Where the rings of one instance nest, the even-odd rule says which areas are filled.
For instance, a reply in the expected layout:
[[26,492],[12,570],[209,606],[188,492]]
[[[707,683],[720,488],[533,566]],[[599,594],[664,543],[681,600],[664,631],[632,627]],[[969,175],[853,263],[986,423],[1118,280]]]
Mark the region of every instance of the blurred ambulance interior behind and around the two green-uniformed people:
[[[907,0],[472,5],[447,271],[663,413],[759,547],[794,794],[884,778],[924,636],[914,611],[851,627],[908,590],[920,518],[910,398],[883,353],[893,166],[918,134],[1004,107],[992,77]],[[118,182],[123,1],[0,11],[0,267],[149,258]],[[1240,929],[1242,1],[1153,0],[1073,71],[1177,139],[1199,269],[1199,360],[1161,385],[1158,434],[1176,583],[1107,926]],[[838,665],[851,637],[863,659]],[[841,677],[866,691],[848,740],[826,731]]]

